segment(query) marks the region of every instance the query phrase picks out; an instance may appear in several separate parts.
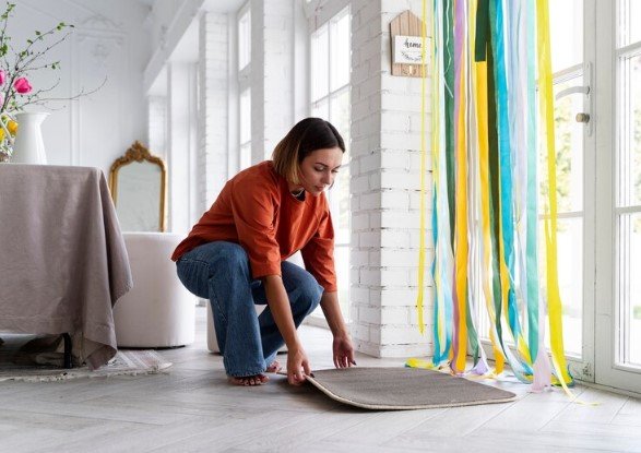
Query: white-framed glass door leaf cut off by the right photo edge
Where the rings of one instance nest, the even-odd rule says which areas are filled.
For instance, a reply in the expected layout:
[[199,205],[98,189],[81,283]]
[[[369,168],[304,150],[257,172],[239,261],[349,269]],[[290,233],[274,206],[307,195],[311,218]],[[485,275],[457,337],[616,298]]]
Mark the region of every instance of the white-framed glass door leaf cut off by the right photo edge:
[[596,8],[596,382],[641,393],[641,0]]

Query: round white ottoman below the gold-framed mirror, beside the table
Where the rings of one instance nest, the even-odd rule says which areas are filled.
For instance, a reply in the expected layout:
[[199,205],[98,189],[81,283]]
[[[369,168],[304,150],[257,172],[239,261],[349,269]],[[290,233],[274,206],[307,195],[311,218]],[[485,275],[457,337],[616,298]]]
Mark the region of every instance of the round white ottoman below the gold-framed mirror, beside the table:
[[114,307],[119,347],[171,347],[193,343],[195,296],[176,275],[171,253],[183,235],[123,233],[133,288]]

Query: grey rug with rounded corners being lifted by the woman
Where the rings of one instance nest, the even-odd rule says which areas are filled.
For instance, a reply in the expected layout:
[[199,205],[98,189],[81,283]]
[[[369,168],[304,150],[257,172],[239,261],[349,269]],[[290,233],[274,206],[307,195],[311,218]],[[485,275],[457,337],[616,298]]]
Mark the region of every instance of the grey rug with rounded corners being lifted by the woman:
[[344,368],[313,371],[307,380],[331,398],[366,409],[402,410],[514,401],[512,392],[415,368]]

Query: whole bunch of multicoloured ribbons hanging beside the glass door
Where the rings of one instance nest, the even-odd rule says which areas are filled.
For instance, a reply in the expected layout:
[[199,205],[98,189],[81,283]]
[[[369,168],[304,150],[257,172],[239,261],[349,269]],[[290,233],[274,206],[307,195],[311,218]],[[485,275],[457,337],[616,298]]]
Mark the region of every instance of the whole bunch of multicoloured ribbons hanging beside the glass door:
[[[550,385],[550,370],[554,382],[567,389],[573,381],[563,355],[557,274],[547,0],[435,0],[431,16],[435,354],[431,362],[411,359],[407,365],[498,375],[507,362],[519,380],[534,383],[536,390]],[[424,0],[424,62],[426,19]],[[426,78],[422,80],[422,206]],[[541,146],[546,150],[549,188],[544,211],[545,295],[539,290],[537,253]],[[422,240],[417,299],[422,333],[424,260]],[[483,302],[496,363],[491,372],[474,321]],[[543,341],[546,307],[551,367]],[[468,354],[474,357],[470,370]]]

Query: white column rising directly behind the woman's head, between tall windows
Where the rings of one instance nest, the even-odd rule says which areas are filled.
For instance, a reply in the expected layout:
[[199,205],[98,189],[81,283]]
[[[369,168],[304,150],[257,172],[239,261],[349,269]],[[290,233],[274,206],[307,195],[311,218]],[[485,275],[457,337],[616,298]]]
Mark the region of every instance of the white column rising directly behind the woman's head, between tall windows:
[[251,0],[251,162],[272,155],[294,121],[292,0]]

